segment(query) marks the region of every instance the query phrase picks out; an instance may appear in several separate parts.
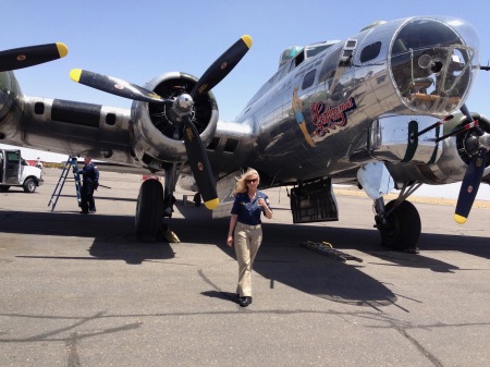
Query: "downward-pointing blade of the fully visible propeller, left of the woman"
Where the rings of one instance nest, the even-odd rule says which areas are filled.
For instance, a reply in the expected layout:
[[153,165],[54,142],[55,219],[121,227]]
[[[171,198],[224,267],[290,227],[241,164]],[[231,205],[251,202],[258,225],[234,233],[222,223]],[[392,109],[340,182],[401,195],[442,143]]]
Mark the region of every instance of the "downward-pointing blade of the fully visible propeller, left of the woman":
[[206,208],[212,210],[219,205],[215,178],[199,132],[187,115],[184,118],[184,144],[188,162]]

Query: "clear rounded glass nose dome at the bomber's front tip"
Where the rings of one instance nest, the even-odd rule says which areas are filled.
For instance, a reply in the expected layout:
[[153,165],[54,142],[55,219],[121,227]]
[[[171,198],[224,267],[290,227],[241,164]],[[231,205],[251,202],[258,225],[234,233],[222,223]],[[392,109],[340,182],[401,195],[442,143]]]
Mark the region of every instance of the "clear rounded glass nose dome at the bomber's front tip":
[[474,57],[475,50],[446,23],[415,20],[392,42],[391,72],[407,107],[446,114],[468,93]]

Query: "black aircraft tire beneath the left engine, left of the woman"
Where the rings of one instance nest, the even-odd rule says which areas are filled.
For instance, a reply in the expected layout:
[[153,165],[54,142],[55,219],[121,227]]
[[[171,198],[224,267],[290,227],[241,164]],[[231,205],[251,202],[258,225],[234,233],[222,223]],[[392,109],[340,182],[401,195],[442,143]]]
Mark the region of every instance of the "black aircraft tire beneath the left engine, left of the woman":
[[157,180],[146,180],[136,204],[136,234],[143,242],[155,242],[163,221],[163,187]]

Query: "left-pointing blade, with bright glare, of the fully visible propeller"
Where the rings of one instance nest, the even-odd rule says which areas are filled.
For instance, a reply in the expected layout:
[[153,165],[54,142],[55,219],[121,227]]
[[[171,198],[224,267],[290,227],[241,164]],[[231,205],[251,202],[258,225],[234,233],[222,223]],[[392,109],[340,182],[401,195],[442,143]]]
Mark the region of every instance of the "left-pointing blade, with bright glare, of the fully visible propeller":
[[172,103],[171,100],[161,98],[152,90],[145,89],[135,84],[118,77],[97,74],[82,69],[73,69],[70,72],[72,81],[84,84],[95,89],[110,93],[123,98],[151,103]]

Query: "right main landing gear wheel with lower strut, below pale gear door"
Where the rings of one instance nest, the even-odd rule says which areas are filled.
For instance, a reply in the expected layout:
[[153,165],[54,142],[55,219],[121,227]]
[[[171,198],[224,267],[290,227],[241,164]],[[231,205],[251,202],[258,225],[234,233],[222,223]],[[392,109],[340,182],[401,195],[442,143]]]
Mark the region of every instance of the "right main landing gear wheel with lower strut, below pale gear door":
[[[380,201],[381,200],[381,201]],[[385,206],[382,198],[375,201],[376,227],[382,244],[387,247],[418,254],[418,238],[420,237],[420,216],[415,206],[406,200],[399,204],[392,200]]]

